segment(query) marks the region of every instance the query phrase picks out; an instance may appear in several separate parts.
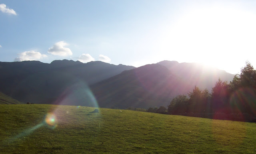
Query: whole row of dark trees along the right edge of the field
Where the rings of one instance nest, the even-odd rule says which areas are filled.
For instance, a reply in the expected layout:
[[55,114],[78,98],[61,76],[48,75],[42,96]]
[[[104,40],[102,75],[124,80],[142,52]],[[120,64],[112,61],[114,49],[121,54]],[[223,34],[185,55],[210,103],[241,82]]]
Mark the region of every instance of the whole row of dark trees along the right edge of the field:
[[212,91],[178,95],[168,105],[168,114],[254,122],[256,117],[256,71],[247,61],[230,83],[218,79]]

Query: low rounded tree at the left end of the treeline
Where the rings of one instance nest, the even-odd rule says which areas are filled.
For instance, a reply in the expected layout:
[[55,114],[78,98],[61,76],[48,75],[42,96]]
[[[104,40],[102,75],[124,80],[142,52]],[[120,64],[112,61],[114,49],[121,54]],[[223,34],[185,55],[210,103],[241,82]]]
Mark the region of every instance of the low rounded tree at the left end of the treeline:
[[169,114],[185,113],[188,107],[188,97],[186,95],[178,95],[172,99],[168,105]]

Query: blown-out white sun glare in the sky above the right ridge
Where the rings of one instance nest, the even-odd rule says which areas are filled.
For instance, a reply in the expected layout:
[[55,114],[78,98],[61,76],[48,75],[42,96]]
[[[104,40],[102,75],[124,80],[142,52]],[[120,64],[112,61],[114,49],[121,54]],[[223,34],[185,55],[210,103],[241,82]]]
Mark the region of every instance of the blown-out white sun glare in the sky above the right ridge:
[[250,61],[248,55],[242,54],[244,51],[256,56],[255,27],[256,15],[240,8],[190,9],[166,33],[166,53],[177,61],[203,63],[236,73],[244,61]]

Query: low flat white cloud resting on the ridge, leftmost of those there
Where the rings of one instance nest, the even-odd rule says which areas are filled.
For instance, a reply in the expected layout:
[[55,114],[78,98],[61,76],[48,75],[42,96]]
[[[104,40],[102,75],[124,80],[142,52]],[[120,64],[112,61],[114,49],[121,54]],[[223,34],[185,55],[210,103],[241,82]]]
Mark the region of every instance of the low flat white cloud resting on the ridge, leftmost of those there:
[[20,53],[19,56],[20,57],[16,57],[14,61],[38,60],[47,57],[47,55],[44,55],[37,51],[24,51]]

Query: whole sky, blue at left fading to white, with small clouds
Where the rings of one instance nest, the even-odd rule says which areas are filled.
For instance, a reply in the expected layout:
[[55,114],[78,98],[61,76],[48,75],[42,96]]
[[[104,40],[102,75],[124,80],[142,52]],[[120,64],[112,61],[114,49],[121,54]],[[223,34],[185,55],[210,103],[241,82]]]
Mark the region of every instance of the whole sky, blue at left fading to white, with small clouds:
[[0,0],[0,61],[256,67],[255,0]]

